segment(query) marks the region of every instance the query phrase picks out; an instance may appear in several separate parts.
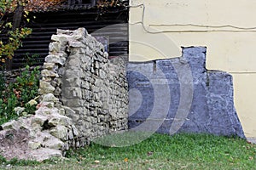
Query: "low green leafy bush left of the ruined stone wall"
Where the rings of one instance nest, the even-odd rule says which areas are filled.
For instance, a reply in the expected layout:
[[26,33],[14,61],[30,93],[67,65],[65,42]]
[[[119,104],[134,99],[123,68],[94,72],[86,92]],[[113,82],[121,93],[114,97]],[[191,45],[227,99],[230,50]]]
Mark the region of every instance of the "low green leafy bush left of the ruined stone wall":
[[[22,116],[21,113],[33,114],[36,105],[28,103],[38,95],[39,75],[38,67],[29,71],[26,66],[25,71],[16,77],[15,82],[6,81],[3,72],[0,75],[0,124],[8,122]],[[20,107],[20,111],[15,111],[15,107]]]

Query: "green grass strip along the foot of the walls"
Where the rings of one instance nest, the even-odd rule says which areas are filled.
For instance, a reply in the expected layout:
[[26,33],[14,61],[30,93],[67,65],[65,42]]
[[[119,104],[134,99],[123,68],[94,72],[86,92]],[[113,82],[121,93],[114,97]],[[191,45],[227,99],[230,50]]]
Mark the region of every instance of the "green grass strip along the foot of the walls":
[[[3,164],[3,158],[0,159]],[[4,166],[11,162],[5,161]],[[29,166],[28,166],[29,165]],[[0,167],[1,168],[1,167]],[[67,159],[16,161],[13,169],[256,169],[256,144],[208,134],[154,134],[139,144],[90,144]]]

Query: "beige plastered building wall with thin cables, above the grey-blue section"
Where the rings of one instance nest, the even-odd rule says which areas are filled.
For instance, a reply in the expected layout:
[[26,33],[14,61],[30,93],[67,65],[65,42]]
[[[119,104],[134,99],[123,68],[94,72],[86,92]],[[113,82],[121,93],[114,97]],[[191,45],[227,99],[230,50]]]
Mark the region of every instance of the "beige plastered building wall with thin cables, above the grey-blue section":
[[[143,5],[142,5],[143,4]],[[130,0],[130,61],[206,46],[207,69],[229,72],[247,137],[256,137],[256,1]]]

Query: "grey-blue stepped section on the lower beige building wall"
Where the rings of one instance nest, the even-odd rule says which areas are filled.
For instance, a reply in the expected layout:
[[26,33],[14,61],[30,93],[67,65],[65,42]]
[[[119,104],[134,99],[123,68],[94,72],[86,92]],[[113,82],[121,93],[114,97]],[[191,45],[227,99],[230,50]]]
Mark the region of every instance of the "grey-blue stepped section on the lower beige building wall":
[[232,77],[207,71],[206,52],[190,47],[183,48],[180,58],[129,63],[129,128],[245,138],[234,107]]

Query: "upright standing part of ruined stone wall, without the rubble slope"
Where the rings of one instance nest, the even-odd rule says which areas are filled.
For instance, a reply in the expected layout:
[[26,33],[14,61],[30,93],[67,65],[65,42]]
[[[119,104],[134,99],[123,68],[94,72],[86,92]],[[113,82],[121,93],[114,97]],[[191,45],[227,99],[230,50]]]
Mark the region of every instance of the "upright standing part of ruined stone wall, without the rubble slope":
[[58,30],[51,40],[39,91],[55,94],[74,111],[67,116],[75,122],[79,140],[127,129],[125,60],[110,62],[102,43],[83,28]]

